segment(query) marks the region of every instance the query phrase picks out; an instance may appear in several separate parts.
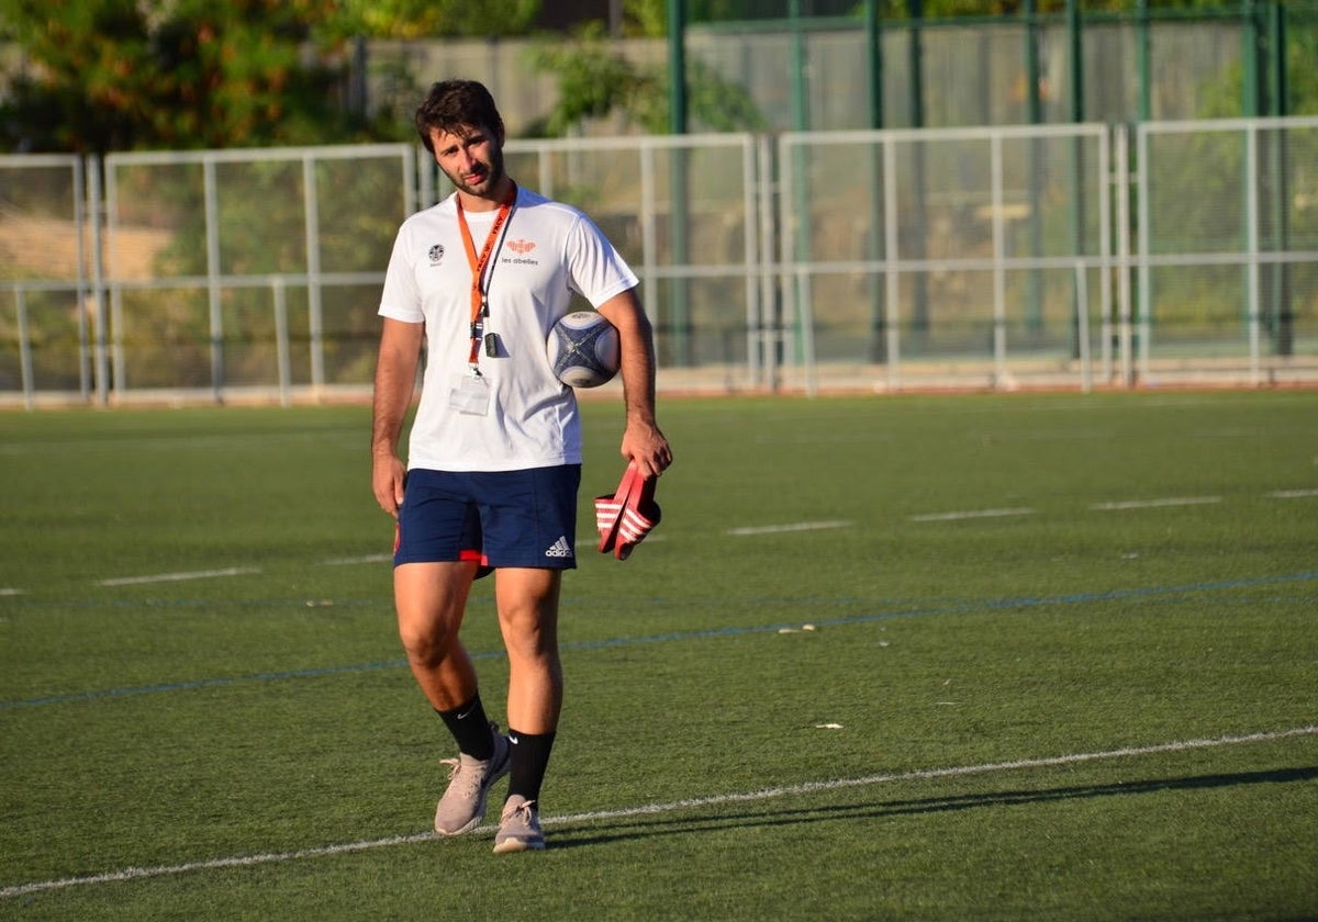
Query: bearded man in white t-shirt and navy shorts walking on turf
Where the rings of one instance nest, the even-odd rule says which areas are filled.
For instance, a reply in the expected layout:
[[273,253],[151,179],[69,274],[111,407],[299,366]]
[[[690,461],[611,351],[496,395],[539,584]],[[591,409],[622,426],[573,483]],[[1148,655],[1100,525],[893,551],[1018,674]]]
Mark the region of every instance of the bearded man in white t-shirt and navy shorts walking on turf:
[[[409,217],[385,277],[372,486],[398,520],[394,602],[416,682],[459,748],[435,831],[480,825],[490,785],[507,800],[494,851],[544,847],[540,785],[558,730],[559,589],[575,562],[581,432],[544,342],[572,292],[618,328],[622,456],[658,477],[654,336],[637,277],[581,212],[519,188],[503,170],[503,120],[471,80],[431,87],[422,144],[456,191]],[[422,345],[426,371],[406,469],[398,454]],[[507,735],[489,722],[459,640],[468,593],[494,572],[509,660]]]

